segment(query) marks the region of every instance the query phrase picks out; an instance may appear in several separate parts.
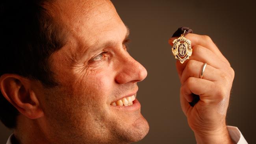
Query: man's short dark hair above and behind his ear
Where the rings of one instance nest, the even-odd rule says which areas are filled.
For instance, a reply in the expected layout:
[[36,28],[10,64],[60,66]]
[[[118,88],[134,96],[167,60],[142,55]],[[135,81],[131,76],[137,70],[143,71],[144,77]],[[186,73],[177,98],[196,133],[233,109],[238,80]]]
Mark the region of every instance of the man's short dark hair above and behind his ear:
[[[49,57],[63,47],[65,35],[50,15],[46,0],[17,0],[0,5],[0,76],[18,74],[36,79],[46,87],[58,85],[50,70]],[[16,127],[19,111],[0,92],[0,120]]]

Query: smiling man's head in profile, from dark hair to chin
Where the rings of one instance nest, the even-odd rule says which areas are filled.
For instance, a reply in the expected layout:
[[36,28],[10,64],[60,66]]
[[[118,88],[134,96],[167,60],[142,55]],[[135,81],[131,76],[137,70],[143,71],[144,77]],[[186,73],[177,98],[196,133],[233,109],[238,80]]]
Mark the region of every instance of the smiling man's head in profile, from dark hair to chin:
[[[145,137],[149,126],[135,97],[137,82],[147,71],[126,51],[129,30],[111,2],[60,0],[22,6],[15,7],[21,11],[10,6],[19,17],[6,19],[19,20],[24,28],[15,23],[14,30],[4,30],[7,37],[1,41],[15,39],[12,32],[26,37],[1,47],[1,54],[9,54],[3,56],[8,65],[2,64],[1,91],[19,111],[14,135],[20,143],[123,143]],[[1,28],[10,27],[4,22]],[[34,27],[39,30],[32,31]],[[45,43],[37,43],[41,41]],[[19,67],[8,71],[12,63]]]

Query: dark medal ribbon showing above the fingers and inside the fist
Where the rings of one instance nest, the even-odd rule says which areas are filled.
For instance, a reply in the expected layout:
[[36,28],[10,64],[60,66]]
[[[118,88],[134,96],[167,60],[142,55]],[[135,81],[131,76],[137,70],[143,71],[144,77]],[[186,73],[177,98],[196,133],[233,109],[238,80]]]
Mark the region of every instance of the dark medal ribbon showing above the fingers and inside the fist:
[[[184,33],[184,30],[186,30],[185,33]],[[185,36],[185,35],[187,35],[187,33],[193,33],[193,30],[191,30],[187,27],[181,27],[181,28],[178,28],[178,30],[176,30],[175,33],[173,33],[172,37],[180,37],[180,35],[182,35],[183,33]],[[192,96],[193,96],[193,101],[189,102],[189,105],[191,107],[194,107],[195,104],[200,100],[200,97],[197,94],[193,94],[193,93],[192,93]]]

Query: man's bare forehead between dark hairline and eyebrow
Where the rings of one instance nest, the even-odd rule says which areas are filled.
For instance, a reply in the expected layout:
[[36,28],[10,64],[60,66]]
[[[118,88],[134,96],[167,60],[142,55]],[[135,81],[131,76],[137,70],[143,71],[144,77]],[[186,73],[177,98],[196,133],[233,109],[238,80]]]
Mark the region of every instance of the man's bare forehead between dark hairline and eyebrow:
[[109,0],[59,0],[52,9],[52,15],[63,23],[69,35],[87,45],[113,38],[113,35],[123,37],[126,33]]

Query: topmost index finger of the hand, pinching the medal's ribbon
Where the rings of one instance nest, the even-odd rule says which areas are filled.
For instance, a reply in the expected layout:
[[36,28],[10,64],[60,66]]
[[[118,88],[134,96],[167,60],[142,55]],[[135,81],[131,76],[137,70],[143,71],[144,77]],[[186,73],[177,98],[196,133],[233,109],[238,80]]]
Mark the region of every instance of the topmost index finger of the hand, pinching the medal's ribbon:
[[[173,46],[173,41],[176,38],[177,37],[172,37],[171,39],[169,39],[169,44],[171,44],[171,46]],[[195,45],[204,46],[205,48],[208,48],[214,54],[216,54],[222,61],[229,64],[228,60],[224,57],[224,55],[217,48],[217,46],[214,44],[214,42],[211,40],[211,38],[209,36],[207,36],[207,35],[197,35],[197,34],[194,34],[194,33],[188,33],[186,35],[186,38],[191,41],[191,46],[192,47],[195,46]]]

